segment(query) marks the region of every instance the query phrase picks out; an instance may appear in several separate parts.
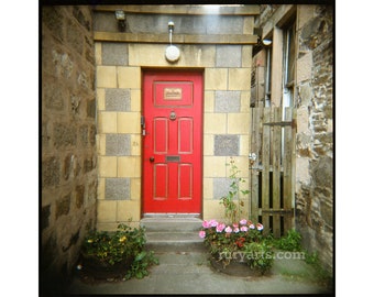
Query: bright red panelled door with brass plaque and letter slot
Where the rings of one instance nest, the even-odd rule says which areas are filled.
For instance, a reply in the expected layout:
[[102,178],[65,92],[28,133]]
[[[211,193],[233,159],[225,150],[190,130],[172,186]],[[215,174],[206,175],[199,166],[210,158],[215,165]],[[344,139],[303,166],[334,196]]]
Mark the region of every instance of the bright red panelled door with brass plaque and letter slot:
[[201,73],[143,76],[143,212],[201,212]]

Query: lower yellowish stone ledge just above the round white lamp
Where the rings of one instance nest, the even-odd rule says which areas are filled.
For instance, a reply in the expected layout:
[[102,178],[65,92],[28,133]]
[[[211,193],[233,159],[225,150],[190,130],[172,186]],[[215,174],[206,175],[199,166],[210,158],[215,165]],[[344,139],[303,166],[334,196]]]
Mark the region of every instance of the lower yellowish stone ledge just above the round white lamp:
[[[128,43],[169,43],[168,34],[95,32],[95,41],[128,42]],[[246,44],[257,43],[257,36],[252,34],[174,34],[174,44]]]

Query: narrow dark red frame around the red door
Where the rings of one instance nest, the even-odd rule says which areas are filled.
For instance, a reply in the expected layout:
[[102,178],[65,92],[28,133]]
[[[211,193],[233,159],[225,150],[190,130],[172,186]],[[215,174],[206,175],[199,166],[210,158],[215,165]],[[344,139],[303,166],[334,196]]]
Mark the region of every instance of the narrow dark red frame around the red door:
[[142,128],[141,128],[141,218],[148,218],[148,217],[167,217],[167,218],[175,218],[175,217],[193,217],[193,218],[200,218],[202,219],[204,216],[204,114],[205,114],[205,68],[163,68],[163,67],[142,67],[141,68],[141,117],[144,116],[144,77],[145,75],[150,73],[155,73],[155,74],[180,74],[180,73],[191,73],[191,74],[197,74],[200,75],[201,77],[201,129],[200,129],[200,213],[172,213],[172,212],[155,212],[155,213],[145,213],[144,212],[144,139],[142,134]]

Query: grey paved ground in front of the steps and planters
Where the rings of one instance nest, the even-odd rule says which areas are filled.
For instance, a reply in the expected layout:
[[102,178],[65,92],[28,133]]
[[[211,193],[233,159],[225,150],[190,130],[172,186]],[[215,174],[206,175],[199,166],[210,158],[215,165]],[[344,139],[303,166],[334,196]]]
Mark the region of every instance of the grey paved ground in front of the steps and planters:
[[331,294],[302,260],[276,260],[270,275],[231,276],[215,270],[201,251],[158,251],[150,276],[89,284],[75,277],[69,294]]

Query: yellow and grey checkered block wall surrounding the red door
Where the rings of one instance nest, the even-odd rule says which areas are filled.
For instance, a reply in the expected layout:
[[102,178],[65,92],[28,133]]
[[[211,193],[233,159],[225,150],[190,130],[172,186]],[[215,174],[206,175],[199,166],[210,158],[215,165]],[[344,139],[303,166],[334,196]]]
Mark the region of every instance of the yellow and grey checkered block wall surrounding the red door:
[[[99,229],[114,229],[119,221],[130,218],[139,222],[142,216],[140,119],[144,68],[204,73],[202,217],[223,217],[219,198],[229,189],[230,172],[226,164],[230,156],[235,158],[241,177],[246,180],[243,187],[248,188],[251,42],[256,41],[252,36],[252,14],[257,13],[257,7],[246,8],[253,10],[252,14],[235,14],[232,10],[228,15],[204,15],[201,8],[194,14],[187,7],[179,8],[186,9],[184,14],[177,8],[170,8],[169,13],[160,12],[157,7],[150,8],[157,13],[145,13],[145,9],[125,11],[123,34],[118,32],[114,11],[95,12]],[[170,20],[175,23],[173,41],[182,53],[174,64],[165,59]],[[232,42],[222,40],[221,34],[230,35]],[[245,43],[243,36],[251,38]],[[187,38],[194,42],[186,42]]]

